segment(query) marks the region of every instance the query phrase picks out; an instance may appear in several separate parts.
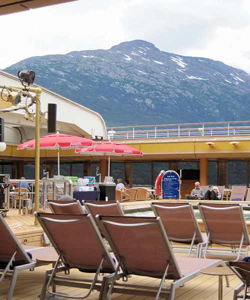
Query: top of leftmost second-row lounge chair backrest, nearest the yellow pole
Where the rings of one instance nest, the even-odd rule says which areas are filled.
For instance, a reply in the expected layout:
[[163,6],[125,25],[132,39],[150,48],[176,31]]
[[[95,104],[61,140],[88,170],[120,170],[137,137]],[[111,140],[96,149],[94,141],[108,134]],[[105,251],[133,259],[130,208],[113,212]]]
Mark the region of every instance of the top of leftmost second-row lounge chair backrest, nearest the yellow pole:
[[45,200],[53,213],[85,213],[80,201]]

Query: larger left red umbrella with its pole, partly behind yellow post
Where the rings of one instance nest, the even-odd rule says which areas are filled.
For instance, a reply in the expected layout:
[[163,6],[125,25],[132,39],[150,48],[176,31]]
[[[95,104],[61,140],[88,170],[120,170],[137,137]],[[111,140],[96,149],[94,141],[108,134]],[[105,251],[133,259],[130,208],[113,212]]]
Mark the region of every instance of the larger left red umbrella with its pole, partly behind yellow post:
[[[59,148],[75,149],[77,147],[91,146],[94,143],[95,143],[94,140],[85,137],[68,135],[59,132],[40,137],[40,149],[50,149],[50,150],[57,149],[58,175],[60,174]],[[34,148],[35,148],[35,138],[19,144],[17,150],[19,149],[33,150]]]

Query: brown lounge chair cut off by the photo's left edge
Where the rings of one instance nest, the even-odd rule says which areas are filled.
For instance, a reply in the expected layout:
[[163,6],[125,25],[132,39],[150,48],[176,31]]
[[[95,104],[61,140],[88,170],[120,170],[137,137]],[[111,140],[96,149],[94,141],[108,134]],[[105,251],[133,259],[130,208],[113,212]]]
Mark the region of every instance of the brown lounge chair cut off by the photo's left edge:
[[56,255],[56,252],[53,247],[22,246],[1,215],[0,239],[0,283],[3,279],[10,279],[6,300],[11,300],[18,272],[47,264],[35,262],[35,258]]

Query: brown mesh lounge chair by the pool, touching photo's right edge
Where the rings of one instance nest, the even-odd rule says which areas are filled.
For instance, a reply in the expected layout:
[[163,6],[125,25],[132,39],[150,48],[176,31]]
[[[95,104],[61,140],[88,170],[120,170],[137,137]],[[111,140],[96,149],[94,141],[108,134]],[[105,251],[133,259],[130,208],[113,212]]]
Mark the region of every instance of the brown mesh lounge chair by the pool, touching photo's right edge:
[[240,256],[247,256],[250,238],[242,205],[197,205],[207,234],[204,257],[206,254],[230,255],[239,260]]

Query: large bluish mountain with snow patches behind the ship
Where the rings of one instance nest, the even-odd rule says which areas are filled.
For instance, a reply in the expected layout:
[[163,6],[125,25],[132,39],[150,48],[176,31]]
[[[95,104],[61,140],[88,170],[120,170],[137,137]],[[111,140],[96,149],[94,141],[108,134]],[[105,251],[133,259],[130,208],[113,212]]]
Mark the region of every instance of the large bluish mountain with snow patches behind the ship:
[[22,69],[35,71],[35,83],[99,112],[107,126],[249,119],[250,74],[144,40],[29,57],[4,71]]

